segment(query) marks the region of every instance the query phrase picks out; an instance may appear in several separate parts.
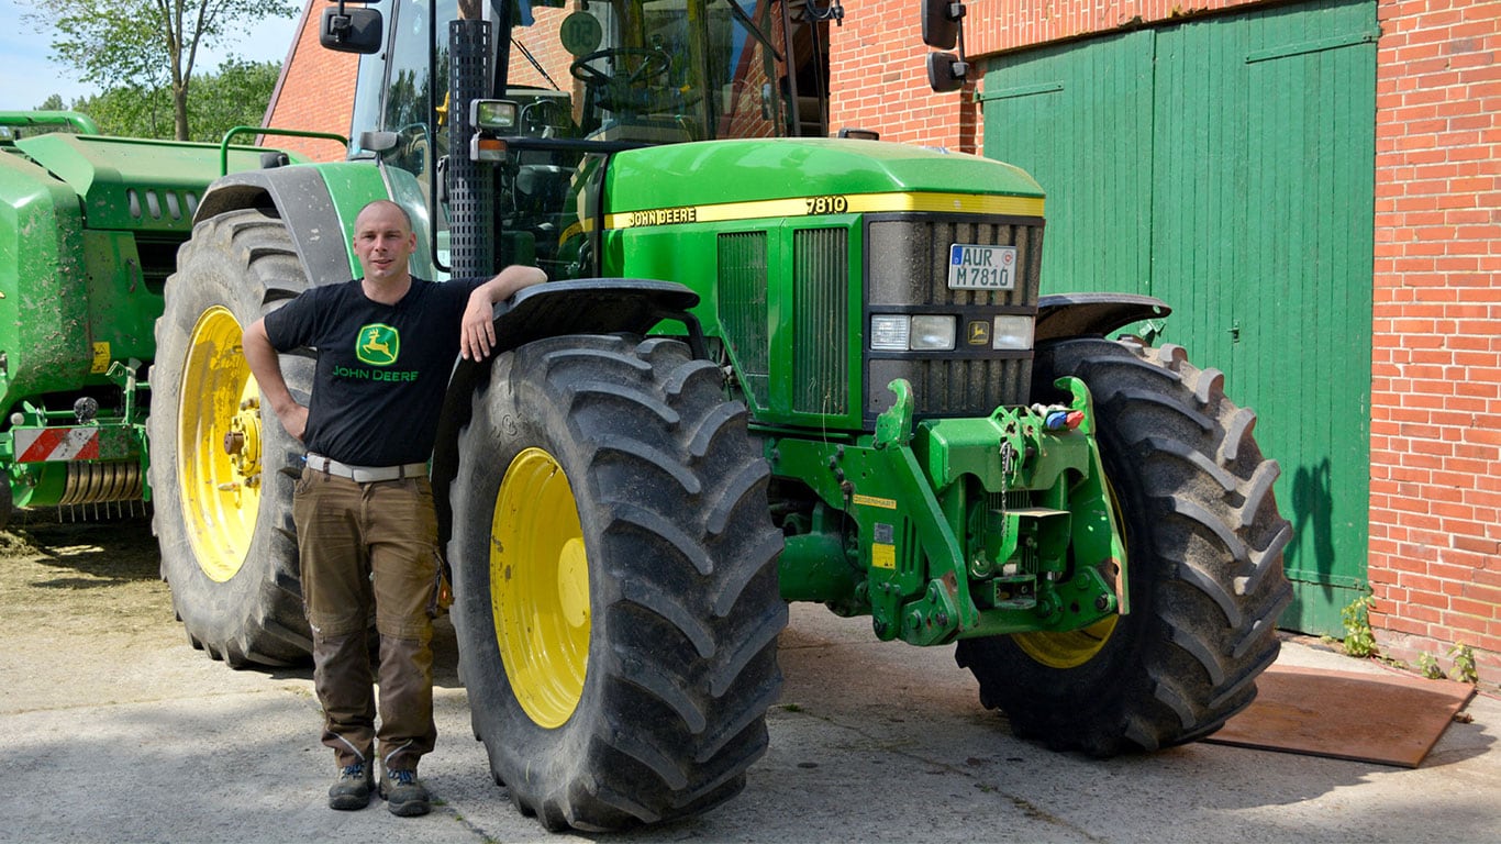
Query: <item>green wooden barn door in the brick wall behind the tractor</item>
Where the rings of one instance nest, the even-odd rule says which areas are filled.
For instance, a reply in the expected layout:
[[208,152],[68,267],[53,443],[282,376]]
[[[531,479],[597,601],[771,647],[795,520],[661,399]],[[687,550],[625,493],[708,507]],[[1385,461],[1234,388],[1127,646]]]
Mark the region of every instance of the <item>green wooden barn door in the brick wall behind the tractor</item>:
[[[1046,293],[1150,293],[1256,408],[1292,520],[1283,626],[1364,590],[1376,8],[1306,3],[1004,56],[986,155],[1048,189]],[[1087,207],[1076,207],[1084,204]]]

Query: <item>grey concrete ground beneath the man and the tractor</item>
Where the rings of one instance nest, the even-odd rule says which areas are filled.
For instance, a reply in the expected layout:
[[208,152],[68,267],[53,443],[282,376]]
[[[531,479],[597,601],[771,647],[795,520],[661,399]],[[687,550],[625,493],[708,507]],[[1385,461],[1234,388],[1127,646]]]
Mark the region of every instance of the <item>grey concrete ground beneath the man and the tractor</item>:
[[[144,535],[144,538],[143,538]],[[189,647],[144,523],[0,533],[0,841],[576,841],[492,784],[440,626],[438,805],[326,808],[311,671]],[[772,748],[713,812],[618,841],[1501,841],[1501,701],[1415,770],[1195,743],[1108,761],[1013,739],[952,647],[794,605]],[[1382,668],[1294,641],[1283,664]],[[1495,689],[1492,689],[1495,691]]]

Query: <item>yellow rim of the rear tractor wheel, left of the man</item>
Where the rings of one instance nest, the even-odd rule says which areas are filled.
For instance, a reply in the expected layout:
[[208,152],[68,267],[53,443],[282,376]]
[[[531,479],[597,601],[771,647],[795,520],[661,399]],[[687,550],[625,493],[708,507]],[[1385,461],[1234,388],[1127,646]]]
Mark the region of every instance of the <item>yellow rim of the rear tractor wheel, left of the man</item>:
[[251,548],[261,505],[260,390],[240,353],[240,323],[227,308],[198,317],[177,405],[177,484],[198,566],[233,578]]

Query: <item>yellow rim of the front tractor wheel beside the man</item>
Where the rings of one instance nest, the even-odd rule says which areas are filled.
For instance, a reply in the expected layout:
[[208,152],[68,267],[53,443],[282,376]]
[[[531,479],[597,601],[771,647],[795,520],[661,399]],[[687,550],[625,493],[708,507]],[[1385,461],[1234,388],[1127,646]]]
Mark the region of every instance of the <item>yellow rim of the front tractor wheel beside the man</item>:
[[489,526],[495,644],[521,709],[561,727],[578,707],[588,667],[588,554],[573,488],[542,449],[506,470]]

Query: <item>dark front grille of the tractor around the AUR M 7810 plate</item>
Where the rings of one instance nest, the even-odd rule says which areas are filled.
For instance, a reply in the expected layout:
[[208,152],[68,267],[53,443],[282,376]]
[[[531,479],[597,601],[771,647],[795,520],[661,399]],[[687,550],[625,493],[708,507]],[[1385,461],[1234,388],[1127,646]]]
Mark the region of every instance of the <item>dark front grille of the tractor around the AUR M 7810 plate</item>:
[[[886,384],[907,378],[917,416],[988,416],[1025,404],[1031,351],[964,350],[964,326],[997,314],[1037,311],[1042,221],[1013,218],[889,215],[866,219],[866,312],[931,312],[961,317],[955,353],[866,353],[865,416],[892,407]],[[1016,246],[1015,290],[949,290],[949,246]],[[866,323],[869,326],[869,321]]]

